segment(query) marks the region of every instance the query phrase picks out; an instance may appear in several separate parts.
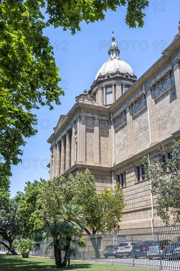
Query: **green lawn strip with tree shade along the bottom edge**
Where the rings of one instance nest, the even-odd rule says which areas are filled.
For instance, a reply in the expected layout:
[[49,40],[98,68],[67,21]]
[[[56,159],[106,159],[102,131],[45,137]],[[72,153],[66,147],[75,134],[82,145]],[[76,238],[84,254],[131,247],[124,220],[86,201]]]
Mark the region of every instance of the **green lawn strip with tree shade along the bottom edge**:
[[[55,271],[55,260],[40,257],[23,259],[21,256],[0,255],[0,271]],[[64,270],[64,269],[63,269]],[[74,271],[152,271],[151,269],[94,264],[88,262],[71,262],[66,270]]]

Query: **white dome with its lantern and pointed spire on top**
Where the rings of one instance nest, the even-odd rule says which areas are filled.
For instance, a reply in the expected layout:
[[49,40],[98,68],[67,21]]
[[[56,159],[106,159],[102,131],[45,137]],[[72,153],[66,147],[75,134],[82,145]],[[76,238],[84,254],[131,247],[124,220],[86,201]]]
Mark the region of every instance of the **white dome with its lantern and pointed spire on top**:
[[114,32],[112,37],[112,43],[108,51],[109,54],[109,60],[105,62],[102,67],[98,70],[96,73],[95,79],[99,75],[105,75],[106,73],[114,73],[117,71],[120,71],[121,73],[128,72],[130,75],[133,75],[134,72],[132,68],[127,64],[125,61],[120,60],[120,49],[118,48],[118,45],[115,42]]

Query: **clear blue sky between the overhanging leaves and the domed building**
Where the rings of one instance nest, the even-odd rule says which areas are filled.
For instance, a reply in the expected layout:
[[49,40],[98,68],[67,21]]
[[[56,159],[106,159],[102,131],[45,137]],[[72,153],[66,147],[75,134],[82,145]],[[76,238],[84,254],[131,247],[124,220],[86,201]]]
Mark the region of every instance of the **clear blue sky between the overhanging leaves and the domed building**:
[[75,103],[75,97],[89,90],[95,74],[109,59],[108,49],[112,31],[120,48],[120,59],[127,62],[139,78],[161,57],[162,51],[178,33],[180,20],[179,0],[150,0],[145,11],[145,25],[129,29],[125,22],[125,8],[107,12],[104,21],[81,24],[81,32],[72,35],[61,28],[47,28],[44,34],[54,47],[57,65],[60,67],[60,86],[65,96],[61,105],[49,111],[48,107],[34,110],[38,118],[37,135],[27,139],[23,148],[22,163],[12,167],[11,196],[23,191],[27,181],[49,178],[47,164],[50,160],[50,144],[47,139],[53,133],[60,114],[66,114]]

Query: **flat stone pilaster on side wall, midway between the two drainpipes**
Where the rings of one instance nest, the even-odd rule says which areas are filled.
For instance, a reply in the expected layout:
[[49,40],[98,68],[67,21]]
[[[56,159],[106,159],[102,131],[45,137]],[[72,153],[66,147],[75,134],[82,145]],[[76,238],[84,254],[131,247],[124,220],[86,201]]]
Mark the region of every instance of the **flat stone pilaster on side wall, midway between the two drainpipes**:
[[134,145],[134,127],[133,127],[131,105],[128,106],[126,109],[126,118],[127,118],[127,141],[129,142],[128,156],[132,156],[135,154],[135,145]]

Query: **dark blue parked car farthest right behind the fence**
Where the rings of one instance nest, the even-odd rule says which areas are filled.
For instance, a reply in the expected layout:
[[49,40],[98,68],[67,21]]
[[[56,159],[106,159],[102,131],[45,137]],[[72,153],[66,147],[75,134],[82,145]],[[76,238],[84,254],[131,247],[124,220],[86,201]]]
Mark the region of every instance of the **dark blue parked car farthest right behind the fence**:
[[180,259],[180,237],[176,237],[172,240],[172,242],[166,246],[163,250],[163,258],[165,259]]

